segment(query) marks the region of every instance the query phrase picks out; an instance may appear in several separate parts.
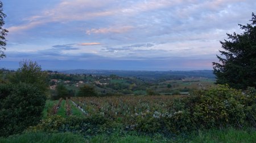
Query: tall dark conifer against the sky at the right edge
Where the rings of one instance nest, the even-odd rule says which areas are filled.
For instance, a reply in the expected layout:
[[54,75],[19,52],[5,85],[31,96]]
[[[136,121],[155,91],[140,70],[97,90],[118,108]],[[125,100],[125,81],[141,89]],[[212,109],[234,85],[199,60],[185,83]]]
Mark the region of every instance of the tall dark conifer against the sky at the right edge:
[[213,62],[217,84],[229,84],[236,89],[256,87],[256,15],[251,24],[241,25],[241,34],[227,34],[228,40],[220,42],[224,51],[217,55],[220,63]]

